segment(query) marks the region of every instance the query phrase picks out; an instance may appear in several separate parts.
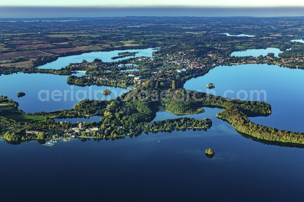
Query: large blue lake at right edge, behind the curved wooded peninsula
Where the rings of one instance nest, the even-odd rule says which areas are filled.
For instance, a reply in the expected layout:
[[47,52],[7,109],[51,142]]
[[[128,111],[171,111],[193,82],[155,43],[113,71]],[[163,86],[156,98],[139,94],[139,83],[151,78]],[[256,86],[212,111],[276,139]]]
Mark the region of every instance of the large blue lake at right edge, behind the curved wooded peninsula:
[[[268,117],[250,118],[254,123],[272,126],[279,130],[304,131],[304,71],[288,69],[268,64],[244,64],[218,66],[205,76],[188,80],[184,87],[189,90],[202,90],[210,94],[229,98],[260,100],[271,104],[272,114]],[[206,89],[207,83],[214,83],[214,89]],[[229,90],[229,91],[227,91]],[[259,91],[252,93],[250,90]],[[260,93],[261,92],[261,93]],[[266,94],[264,94],[265,92]],[[239,96],[238,96],[239,94]],[[265,95],[265,96],[264,96]]]

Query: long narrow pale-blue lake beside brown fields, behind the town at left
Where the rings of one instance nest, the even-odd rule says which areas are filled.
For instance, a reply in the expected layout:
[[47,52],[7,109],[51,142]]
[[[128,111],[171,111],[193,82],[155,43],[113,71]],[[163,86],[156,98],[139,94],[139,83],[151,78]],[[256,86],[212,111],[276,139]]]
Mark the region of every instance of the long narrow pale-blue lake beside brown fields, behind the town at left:
[[[82,60],[86,60],[88,62],[92,62],[94,59],[98,58],[101,59],[103,62],[113,62],[118,61],[122,59],[128,59],[133,57],[140,57],[140,56],[146,56],[146,57],[152,57],[152,52],[154,51],[154,48],[148,48],[148,49],[130,49],[130,50],[114,50],[114,51],[98,51],[98,52],[89,52],[89,53],[83,53],[81,55],[77,56],[67,56],[67,57],[60,57],[54,62],[47,63],[45,65],[39,66],[41,69],[61,69],[61,67],[65,67],[70,63],[80,63]],[[124,58],[119,58],[112,60],[111,58],[114,56],[118,56],[119,52],[138,52],[135,54],[135,56],[129,56]]]

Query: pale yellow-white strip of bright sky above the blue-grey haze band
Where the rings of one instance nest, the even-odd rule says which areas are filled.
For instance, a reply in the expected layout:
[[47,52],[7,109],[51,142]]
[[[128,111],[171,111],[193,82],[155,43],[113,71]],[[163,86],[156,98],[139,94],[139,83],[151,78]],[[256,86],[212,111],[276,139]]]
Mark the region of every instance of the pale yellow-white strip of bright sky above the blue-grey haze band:
[[100,7],[143,7],[143,6],[190,6],[190,7],[290,7],[304,6],[301,0],[12,0],[1,1],[1,6],[100,6]]

